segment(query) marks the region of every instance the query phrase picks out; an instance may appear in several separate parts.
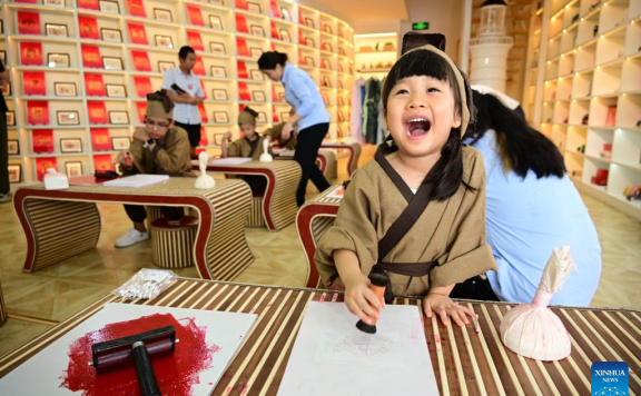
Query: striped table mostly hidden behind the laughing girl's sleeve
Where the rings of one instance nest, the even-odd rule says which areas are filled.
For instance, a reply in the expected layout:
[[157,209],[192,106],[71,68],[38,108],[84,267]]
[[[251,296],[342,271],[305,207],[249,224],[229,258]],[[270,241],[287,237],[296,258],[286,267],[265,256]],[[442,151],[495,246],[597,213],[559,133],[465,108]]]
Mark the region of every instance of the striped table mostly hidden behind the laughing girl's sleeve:
[[314,255],[316,254],[318,238],[334,225],[338,207],[341,206],[341,199],[327,198],[327,195],[336,187],[338,186],[332,186],[305,202],[296,215],[298,240],[300,240],[303,250],[305,250],[305,258],[309,267],[307,281],[305,283],[307,287],[318,287],[320,283],[320,276],[314,264]]

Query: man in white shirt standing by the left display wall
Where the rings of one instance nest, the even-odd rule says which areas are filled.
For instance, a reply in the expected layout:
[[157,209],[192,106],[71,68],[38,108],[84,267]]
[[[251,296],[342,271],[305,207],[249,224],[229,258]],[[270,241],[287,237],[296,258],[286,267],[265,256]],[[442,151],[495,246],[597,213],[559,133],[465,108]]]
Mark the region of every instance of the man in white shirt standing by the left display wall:
[[196,156],[196,147],[200,141],[200,111],[198,105],[203,103],[205,93],[200,80],[191,71],[196,66],[196,51],[189,46],[178,51],[180,66],[170,69],[162,78],[162,89],[176,107],[174,108],[174,123],[183,128],[189,136],[191,156]]

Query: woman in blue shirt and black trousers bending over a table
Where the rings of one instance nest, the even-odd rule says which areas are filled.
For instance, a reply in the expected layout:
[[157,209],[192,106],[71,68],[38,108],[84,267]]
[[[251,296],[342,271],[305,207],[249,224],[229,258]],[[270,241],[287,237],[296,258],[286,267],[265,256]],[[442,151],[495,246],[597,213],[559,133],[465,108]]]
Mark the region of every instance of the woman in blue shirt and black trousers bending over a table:
[[295,110],[283,127],[283,138],[287,140],[294,125],[298,126],[298,142],[294,159],[300,165],[300,184],[296,191],[298,206],[305,204],[307,180],[324,191],[329,184],[316,167],[318,149],[329,130],[329,113],[314,80],[305,71],[289,65],[287,55],[282,52],[264,52],[258,59],[258,68],[272,81],[283,82],[285,100]]

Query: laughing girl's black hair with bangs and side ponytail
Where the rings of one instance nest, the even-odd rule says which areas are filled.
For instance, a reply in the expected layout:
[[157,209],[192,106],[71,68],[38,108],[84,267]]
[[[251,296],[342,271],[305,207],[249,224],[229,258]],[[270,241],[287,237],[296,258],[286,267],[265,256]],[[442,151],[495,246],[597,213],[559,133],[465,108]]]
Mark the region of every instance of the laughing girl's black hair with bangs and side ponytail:
[[[416,50],[404,55],[392,67],[392,70],[389,70],[381,91],[383,113],[385,117],[387,117],[387,99],[389,98],[392,88],[394,88],[400,80],[413,76],[428,76],[441,81],[446,81],[450,85],[452,95],[454,95],[454,112],[463,118],[461,90],[454,70],[452,70],[447,60],[427,50]],[[464,88],[467,92],[467,87]],[[466,99],[471,118],[473,118],[472,98]],[[470,122],[472,121],[471,119]],[[389,138],[391,137],[392,135],[389,135]],[[463,154],[461,147],[461,128],[452,128],[450,130],[450,137],[441,150],[441,160],[434,165],[431,172],[434,177],[433,181],[436,184],[432,199],[446,200],[451,198],[456,194],[461,184],[463,184],[467,190],[475,190],[463,180]]]

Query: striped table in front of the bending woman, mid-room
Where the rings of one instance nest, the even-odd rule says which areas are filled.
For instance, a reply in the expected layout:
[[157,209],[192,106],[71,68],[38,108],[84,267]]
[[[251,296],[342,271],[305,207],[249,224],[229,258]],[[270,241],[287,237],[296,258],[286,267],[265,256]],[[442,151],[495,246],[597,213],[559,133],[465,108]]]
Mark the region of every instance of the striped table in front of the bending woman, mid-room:
[[[197,166],[194,169],[198,169]],[[216,165],[210,162],[208,171],[229,175],[260,175],[267,178],[263,197],[263,217],[270,231],[287,227],[296,218],[296,189],[300,182],[300,166],[296,161],[260,162],[249,161],[238,165]]]

